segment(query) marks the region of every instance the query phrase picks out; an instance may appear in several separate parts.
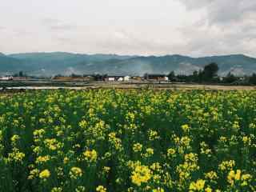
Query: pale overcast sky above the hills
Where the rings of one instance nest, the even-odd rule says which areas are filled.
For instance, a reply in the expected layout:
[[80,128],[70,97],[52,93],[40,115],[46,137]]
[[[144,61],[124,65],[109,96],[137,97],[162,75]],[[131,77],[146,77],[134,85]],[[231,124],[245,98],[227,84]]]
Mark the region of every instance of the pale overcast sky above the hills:
[[255,0],[1,0],[0,52],[247,54]]

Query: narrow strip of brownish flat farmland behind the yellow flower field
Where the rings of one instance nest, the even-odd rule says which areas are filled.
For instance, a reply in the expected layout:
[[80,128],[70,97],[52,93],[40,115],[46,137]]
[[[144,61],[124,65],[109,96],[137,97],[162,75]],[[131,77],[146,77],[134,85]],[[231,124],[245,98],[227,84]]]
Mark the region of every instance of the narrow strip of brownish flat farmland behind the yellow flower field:
[[256,86],[229,86],[229,85],[196,85],[171,82],[0,82],[0,87],[6,89],[156,89],[156,90],[256,90]]

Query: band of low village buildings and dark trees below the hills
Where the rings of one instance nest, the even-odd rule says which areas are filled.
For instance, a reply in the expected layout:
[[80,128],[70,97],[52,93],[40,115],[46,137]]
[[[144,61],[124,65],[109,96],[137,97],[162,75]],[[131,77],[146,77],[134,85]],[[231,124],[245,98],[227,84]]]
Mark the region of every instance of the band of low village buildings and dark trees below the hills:
[[89,83],[89,82],[142,82],[142,83],[187,83],[187,84],[217,84],[234,86],[256,85],[256,74],[237,76],[231,72],[226,76],[218,75],[218,64],[212,62],[203,70],[195,70],[193,74],[144,74],[144,75],[113,75],[113,74],[57,74],[54,76],[31,76],[22,71],[18,74],[0,76],[0,82],[49,82],[49,83]]

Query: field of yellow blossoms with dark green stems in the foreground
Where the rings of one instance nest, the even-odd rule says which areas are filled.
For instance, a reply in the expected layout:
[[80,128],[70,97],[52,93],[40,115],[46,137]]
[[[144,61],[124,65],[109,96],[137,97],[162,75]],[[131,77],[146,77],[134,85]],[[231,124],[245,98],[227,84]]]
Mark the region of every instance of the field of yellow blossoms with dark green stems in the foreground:
[[0,191],[256,191],[256,91],[0,95]]

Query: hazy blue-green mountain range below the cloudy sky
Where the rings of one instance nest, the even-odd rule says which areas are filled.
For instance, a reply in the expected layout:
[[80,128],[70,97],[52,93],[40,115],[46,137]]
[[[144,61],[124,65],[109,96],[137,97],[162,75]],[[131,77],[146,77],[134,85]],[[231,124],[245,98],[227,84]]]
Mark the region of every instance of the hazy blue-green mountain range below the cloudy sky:
[[0,75],[14,74],[22,70],[29,75],[53,76],[56,74],[130,74],[145,73],[192,74],[210,62],[216,62],[220,68],[219,75],[231,71],[235,75],[256,73],[256,58],[243,54],[191,58],[178,54],[166,56],[129,56],[117,54],[71,54],[27,53],[1,54]]

